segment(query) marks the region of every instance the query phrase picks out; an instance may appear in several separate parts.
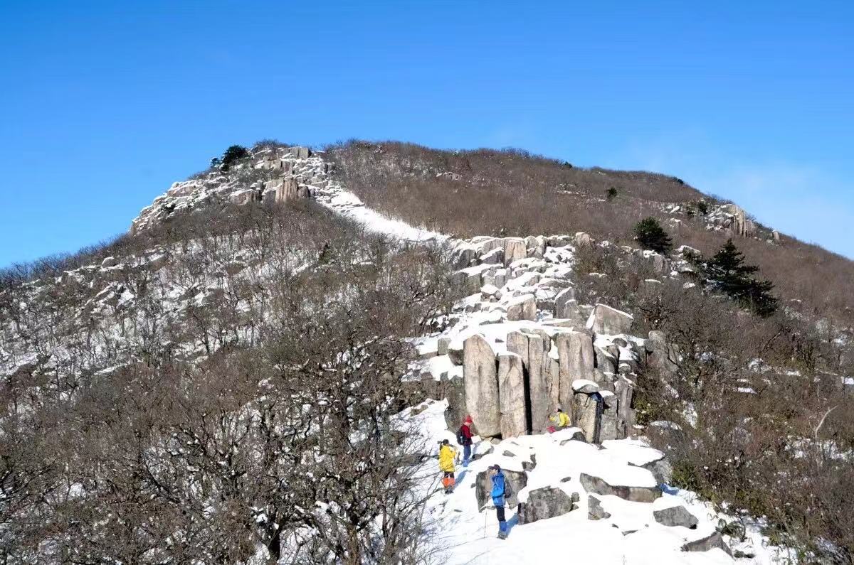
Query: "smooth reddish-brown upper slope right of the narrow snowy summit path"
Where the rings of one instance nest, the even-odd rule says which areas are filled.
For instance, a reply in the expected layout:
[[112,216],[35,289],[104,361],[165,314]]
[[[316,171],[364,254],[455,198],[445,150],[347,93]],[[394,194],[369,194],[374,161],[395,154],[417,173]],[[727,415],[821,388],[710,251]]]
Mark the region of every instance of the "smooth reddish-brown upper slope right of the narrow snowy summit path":
[[[703,218],[681,215],[677,229],[665,208],[705,198],[681,180],[650,172],[582,169],[520,150],[441,151],[412,143],[351,141],[331,146],[337,174],[371,207],[412,224],[456,236],[574,233],[633,243],[631,228],[647,216],[667,226],[676,245],[713,253],[728,237]],[[452,179],[442,173],[453,172]],[[609,188],[617,198],[607,201]],[[782,237],[781,245],[738,238],[784,301],[810,315],[854,324],[854,262]]]

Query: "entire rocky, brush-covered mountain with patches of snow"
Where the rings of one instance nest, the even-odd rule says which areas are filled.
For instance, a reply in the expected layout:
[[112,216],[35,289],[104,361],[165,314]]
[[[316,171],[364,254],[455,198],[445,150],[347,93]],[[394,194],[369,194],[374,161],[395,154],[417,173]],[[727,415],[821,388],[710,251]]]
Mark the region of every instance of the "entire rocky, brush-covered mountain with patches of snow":
[[851,562],[851,281],[664,175],[233,146],[3,271],[0,556]]

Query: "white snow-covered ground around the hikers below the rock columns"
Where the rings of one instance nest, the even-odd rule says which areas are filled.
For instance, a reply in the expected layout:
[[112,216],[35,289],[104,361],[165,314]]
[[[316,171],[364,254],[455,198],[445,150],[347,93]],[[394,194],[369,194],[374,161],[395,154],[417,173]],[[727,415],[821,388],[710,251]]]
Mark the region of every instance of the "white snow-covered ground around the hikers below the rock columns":
[[[431,445],[436,446],[437,440],[445,438],[455,445],[443,416],[447,402],[428,402],[418,415],[407,416],[405,412],[403,416],[418,424]],[[639,440],[611,441],[600,448],[582,441],[566,441],[568,435],[564,431],[504,440],[467,469],[459,466],[454,492],[446,495],[440,490],[427,501],[428,534],[438,550],[436,562],[444,565],[520,565],[553,560],[601,565],[721,565],[733,562],[771,565],[784,562],[773,547],[767,546],[767,540],[754,526],[747,527],[744,542],[728,539],[734,550],[752,554],[752,557],[734,560],[720,549],[682,551],[683,544],[714,533],[718,519],[732,519],[699,501],[693,492],[669,489],[652,504],[597,495],[611,517],[588,519],[588,493],[579,481],[582,472],[606,472],[611,477],[624,475],[629,478],[640,470],[629,462],[638,463],[639,459],[657,451]],[[487,442],[476,444],[476,454],[487,450]],[[505,452],[511,450],[523,455],[506,456]],[[507,509],[510,534],[506,540],[498,539],[494,510],[480,511],[477,507],[477,474],[494,463],[500,464],[502,469],[522,470],[521,461],[528,458],[524,453],[531,452],[535,453],[536,464],[528,471],[528,486],[518,492],[520,500],[526,500],[529,492],[535,489],[551,486],[567,493],[578,492],[578,509],[524,525],[518,524],[516,509]],[[430,471],[439,475],[436,459],[423,465],[425,475],[429,476]],[[437,481],[430,481],[430,486],[436,484]],[[681,504],[699,519],[695,529],[668,527],[655,521],[653,510],[676,504]]]

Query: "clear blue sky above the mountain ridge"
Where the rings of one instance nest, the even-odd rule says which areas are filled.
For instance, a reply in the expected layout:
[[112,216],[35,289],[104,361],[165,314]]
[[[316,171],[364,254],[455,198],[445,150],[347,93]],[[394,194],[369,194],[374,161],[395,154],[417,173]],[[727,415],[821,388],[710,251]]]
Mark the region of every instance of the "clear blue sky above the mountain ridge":
[[0,3],[0,265],[231,143],[516,146],[674,174],[854,257],[854,3]]

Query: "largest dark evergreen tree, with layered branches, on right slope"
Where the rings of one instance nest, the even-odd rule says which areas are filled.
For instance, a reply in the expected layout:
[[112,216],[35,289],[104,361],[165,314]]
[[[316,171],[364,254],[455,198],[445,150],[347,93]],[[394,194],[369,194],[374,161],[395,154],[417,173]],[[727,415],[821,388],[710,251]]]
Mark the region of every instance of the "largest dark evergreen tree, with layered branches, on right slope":
[[705,277],[711,288],[738,300],[760,316],[769,316],[777,309],[777,299],[771,294],[774,284],[753,277],[757,271],[757,266],[745,264],[744,254],[732,239],[705,264]]

